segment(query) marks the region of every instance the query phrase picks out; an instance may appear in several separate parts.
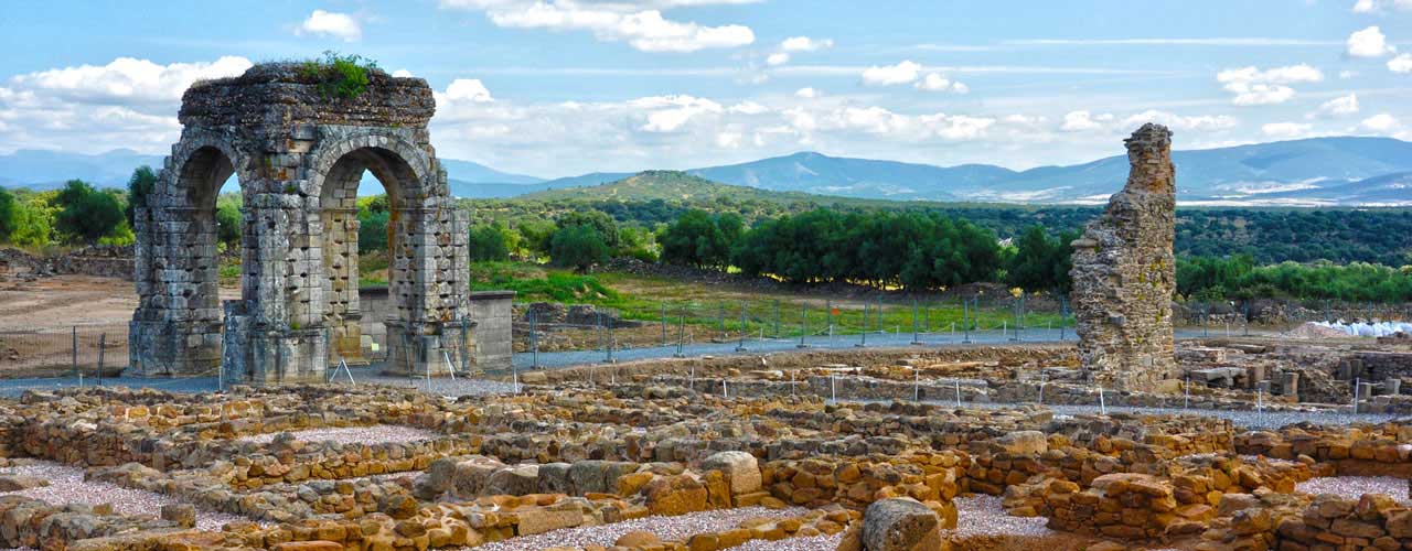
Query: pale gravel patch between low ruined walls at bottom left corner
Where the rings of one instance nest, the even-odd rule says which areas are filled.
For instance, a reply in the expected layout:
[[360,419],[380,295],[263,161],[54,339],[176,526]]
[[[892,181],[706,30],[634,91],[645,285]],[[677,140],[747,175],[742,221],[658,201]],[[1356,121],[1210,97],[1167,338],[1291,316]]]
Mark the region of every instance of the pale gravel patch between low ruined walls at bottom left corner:
[[[113,510],[119,513],[151,514],[157,517],[161,516],[161,507],[164,504],[185,503],[161,493],[134,490],[106,482],[83,482],[83,469],[51,462],[8,466],[0,469],[0,473],[30,475],[49,481],[48,486],[3,493],[42,499],[49,504],[112,503]],[[196,527],[201,530],[220,530],[223,524],[237,520],[250,519],[236,514],[205,512],[201,507],[196,509]]]

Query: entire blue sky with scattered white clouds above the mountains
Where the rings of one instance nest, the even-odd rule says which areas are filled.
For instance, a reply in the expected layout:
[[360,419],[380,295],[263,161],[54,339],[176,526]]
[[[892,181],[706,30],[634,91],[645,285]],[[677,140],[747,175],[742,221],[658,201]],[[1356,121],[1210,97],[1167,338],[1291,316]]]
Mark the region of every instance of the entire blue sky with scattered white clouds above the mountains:
[[0,47],[0,154],[161,154],[192,80],[326,49],[425,78],[439,155],[544,178],[1412,140],[1412,0],[49,0]]

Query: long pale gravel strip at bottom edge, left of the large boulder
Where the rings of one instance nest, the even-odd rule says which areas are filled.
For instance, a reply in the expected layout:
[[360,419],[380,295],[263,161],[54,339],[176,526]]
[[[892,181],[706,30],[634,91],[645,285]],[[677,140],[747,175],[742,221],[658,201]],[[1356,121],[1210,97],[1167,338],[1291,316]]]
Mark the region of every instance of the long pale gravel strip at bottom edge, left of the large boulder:
[[645,530],[657,534],[662,540],[686,540],[703,531],[720,531],[734,528],[740,521],[758,517],[784,519],[796,517],[805,509],[772,510],[764,507],[741,507],[689,513],[675,517],[644,517],[624,520],[621,523],[602,526],[582,526],[578,528],[555,530],[544,534],[524,535],[505,541],[496,541],[476,547],[476,551],[530,551],[545,547],[583,547],[603,545],[613,547],[618,537],[634,530]]

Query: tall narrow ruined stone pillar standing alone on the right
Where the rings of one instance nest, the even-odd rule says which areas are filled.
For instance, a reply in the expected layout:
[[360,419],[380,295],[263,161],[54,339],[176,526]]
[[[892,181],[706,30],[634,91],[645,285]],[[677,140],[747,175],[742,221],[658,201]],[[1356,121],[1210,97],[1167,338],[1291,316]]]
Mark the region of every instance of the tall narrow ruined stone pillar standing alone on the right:
[[1144,124],[1124,141],[1128,183],[1073,242],[1079,361],[1096,382],[1145,390],[1172,373],[1172,132]]

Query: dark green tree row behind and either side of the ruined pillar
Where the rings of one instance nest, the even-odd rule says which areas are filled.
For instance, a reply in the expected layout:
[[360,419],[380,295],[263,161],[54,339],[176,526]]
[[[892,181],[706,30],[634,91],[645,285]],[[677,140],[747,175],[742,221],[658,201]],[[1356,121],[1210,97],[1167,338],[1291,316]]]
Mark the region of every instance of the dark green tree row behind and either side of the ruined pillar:
[[[662,262],[796,283],[853,282],[938,289],[1000,282],[1027,292],[1067,293],[1077,231],[1025,228],[1014,240],[936,213],[837,213],[819,209],[743,228],[730,214],[683,213],[665,227]],[[1412,300],[1412,265],[1329,261],[1258,265],[1251,255],[1179,255],[1179,299]]]

